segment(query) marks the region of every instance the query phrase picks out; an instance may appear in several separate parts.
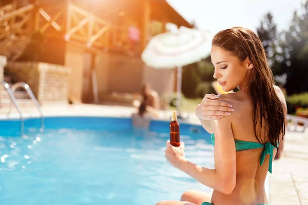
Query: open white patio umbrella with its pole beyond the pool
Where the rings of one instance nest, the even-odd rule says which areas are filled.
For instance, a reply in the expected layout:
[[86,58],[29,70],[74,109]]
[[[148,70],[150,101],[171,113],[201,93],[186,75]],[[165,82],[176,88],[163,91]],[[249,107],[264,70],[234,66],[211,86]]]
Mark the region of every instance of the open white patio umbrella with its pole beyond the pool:
[[182,67],[210,54],[213,35],[207,31],[166,24],[166,33],[152,37],[141,58],[148,67],[177,68],[177,111],[180,115]]

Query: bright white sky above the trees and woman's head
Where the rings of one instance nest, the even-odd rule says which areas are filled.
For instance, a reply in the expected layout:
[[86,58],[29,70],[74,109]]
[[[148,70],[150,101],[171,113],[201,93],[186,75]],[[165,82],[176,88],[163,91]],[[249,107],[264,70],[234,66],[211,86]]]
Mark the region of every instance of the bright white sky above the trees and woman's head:
[[167,0],[188,22],[213,33],[234,26],[257,31],[267,12],[274,16],[278,31],[291,24],[304,0]]

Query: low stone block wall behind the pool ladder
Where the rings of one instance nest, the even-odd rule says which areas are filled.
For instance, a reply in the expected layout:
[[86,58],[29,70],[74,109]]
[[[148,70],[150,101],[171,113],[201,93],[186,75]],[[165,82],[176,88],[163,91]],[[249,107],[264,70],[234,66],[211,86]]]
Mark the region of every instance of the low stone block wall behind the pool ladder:
[[68,102],[68,76],[70,69],[61,65],[14,62],[8,63],[5,73],[14,83],[27,83],[42,105],[54,101]]

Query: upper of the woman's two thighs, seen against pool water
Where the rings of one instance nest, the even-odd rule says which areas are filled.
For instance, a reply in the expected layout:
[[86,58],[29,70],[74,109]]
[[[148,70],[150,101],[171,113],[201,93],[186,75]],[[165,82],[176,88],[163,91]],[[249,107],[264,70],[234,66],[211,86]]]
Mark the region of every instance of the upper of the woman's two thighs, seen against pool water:
[[189,190],[183,193],[181,201],[189,201],[191,203],[201,205],[202,202],[210,202],[211,194],[196,190]]

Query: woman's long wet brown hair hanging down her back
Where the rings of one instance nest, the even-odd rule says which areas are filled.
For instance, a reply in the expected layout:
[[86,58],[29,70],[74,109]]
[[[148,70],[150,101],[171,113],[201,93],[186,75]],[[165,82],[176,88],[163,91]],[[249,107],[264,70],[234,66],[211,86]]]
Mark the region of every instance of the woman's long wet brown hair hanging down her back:
[[[267,65],[266,54],[259,37],[250,29],[233,27],[217,33],[212,46],[237,56],[241,61],[248,59],[254,65],[248,81],[247,91],[253,105],[253,121],[255,136],[261,144],[265,144],[266,137],[278,149],[277,142],[280,134],[285,134],[284,112],[280,99],[275,92],[275,81],[272,70]],[[260,132],[264,122],[264,136],[261,141],[257,137],[257,124],[260,122]]]

